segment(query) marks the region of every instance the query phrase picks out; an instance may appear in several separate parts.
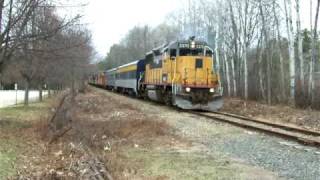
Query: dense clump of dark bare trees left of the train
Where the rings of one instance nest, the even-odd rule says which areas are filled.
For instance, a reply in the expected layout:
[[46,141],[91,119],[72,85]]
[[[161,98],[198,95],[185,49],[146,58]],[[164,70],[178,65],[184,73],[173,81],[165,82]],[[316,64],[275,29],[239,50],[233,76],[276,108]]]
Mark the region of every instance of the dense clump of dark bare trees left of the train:
[[82,86],[93,49],[80,19],[59,17],[48,0],[0,0],[0,88],[18,83],[27,105],[31,88],[42,100],[44,88]]

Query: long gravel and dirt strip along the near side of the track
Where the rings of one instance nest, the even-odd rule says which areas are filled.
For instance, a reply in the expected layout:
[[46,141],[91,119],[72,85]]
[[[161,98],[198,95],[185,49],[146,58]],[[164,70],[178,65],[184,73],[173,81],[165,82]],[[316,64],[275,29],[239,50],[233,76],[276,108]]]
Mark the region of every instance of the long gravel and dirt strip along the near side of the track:
[[219,153],[241,163],[271,171],[276,179],[320,179],[320,149],[191,115],[159,104],[113,96],[134,104],[149,116],[158,116],[176,134],[203,146],[203,153]]

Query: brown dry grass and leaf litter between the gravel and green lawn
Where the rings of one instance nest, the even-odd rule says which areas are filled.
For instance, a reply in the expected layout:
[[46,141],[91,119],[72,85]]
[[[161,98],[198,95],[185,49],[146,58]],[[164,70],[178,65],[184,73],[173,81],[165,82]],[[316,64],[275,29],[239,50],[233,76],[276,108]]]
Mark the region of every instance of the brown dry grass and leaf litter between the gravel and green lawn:
[[242,172],[243,166],[192,150],[191,142],[177,137],[166,121],[105,91],[90,88],[80,94],[69,113],[72,129],[53,144],[47,142],[45,118],[38,117],[21,133],[27,144],[20,155],[23,177],[79,179],[86,148],[114,179],[227,179]]

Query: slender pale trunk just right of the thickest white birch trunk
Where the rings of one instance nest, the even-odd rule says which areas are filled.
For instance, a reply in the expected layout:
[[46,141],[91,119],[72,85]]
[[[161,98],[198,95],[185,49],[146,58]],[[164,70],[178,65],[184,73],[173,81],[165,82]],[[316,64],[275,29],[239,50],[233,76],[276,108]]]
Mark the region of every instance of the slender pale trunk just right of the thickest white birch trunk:
[[298,39],[298,59],[300,63],[300,89],[304,94],[304,59],[302,49],[302,37],[301,37],[301,21],[300,21],[300,0],[296,0],[296,12],[297,12],[297,39]]

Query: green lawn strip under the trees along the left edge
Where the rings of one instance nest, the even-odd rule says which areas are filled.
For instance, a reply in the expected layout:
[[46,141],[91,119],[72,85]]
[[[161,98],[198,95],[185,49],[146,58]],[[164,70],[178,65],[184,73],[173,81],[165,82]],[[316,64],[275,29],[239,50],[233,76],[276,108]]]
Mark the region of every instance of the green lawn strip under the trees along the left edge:
[[48,115],[52,99],[41,103],[0,108],[0,179],[16,172],[19,153],[28,143],[28,129]]

